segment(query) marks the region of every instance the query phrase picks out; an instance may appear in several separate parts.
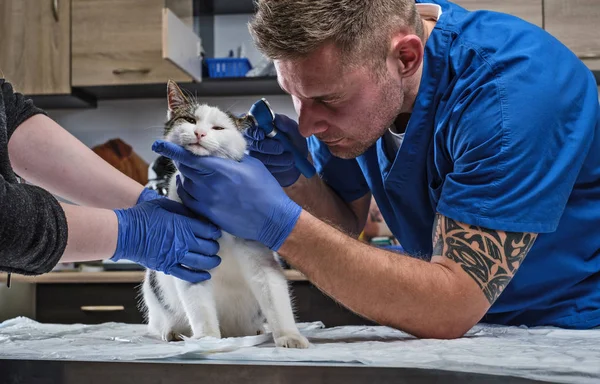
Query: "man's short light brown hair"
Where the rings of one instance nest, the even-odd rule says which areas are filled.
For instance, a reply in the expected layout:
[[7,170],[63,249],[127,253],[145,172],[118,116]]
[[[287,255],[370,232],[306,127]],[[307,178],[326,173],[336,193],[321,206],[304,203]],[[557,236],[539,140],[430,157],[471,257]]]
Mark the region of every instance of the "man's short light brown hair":
[[415,0],[257,0],[249,24],[268,58],[293,60],[333,43],[346,63],[381,62],[392,33],[423,39]]

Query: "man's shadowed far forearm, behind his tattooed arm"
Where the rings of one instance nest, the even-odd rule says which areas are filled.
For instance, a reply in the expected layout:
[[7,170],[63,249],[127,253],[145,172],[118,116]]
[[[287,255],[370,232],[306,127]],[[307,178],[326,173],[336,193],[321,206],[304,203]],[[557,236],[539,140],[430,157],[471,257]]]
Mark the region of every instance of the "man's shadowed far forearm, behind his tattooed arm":
[[364,210],[360,209],[365,206],[364,200],[370,201],[370,194],[356,202],[346,203],[318,176],[306,179],[302,175],[296,183],[285,188],[285,192],[312,215],[340,228],[351,237],[357,238],[365,226],[368,203],[365,214],[359,212]]

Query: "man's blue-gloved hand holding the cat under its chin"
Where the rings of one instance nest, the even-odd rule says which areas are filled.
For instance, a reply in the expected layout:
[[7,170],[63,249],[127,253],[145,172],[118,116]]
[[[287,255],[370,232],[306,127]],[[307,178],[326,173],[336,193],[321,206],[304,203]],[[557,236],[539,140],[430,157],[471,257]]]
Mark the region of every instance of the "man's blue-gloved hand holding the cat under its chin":
[[179,169],[183,178],[177,179],[177,193],[183,204],[232,235],[277,251],[300,217],[302,208],[253,157],[240,162],[200,157],[162,140],[152,150]]

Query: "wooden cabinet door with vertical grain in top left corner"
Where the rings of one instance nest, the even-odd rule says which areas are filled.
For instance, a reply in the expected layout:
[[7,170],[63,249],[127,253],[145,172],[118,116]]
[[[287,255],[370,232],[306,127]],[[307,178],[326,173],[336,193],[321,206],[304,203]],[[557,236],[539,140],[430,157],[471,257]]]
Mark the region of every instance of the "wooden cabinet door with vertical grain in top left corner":
[[71,92],[70,0],[0,0],[0,76],[27,95]]

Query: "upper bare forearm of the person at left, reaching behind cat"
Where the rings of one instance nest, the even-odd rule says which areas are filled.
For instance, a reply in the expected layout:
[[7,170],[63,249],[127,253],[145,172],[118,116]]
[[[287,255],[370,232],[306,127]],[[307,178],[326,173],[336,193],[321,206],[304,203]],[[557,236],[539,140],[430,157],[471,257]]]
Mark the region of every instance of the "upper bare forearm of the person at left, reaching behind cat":
[[143,189],[43,115],[15,130],[8,153],[21,177],[77,204],[126,208],[137,202]]

